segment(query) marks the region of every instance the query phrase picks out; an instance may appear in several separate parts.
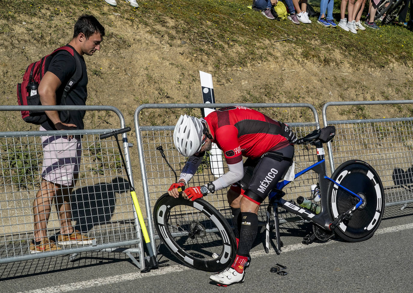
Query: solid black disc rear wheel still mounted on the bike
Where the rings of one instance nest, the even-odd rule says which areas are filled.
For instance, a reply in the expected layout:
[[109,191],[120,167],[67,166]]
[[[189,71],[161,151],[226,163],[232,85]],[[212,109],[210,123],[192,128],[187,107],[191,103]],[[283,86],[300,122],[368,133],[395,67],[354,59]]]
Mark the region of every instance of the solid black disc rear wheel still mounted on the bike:
[[[335,229],[336,234],[349,242],[369,239],[379,227],[385,209],[384,189],[379,175],[368,163],[350,160],[342,163],[331,178],[366,201],[353,211],[350,220],[339,224]],[[357,201],[344,189],[333,182],[329,183],[327,209],[333,220],[350,210]]]

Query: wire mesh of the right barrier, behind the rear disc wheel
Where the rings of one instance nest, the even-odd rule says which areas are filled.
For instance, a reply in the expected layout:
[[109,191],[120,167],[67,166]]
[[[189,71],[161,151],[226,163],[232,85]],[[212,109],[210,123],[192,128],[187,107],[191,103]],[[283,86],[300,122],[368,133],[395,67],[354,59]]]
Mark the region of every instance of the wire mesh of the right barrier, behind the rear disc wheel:
[[386,203],[413,199],[413,122],[346,122],[336,127],[332,154],[337,168],[351,159],[366,161],[379,174]]

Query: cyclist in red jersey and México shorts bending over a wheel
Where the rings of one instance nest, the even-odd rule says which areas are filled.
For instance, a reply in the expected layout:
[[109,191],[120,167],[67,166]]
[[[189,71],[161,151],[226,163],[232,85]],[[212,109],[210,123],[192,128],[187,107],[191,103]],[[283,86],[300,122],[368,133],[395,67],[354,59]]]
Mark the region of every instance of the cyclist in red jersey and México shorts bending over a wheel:
[[[169,188],[169,195],[178,198],[178,187],[185,186],[192,178],[212,143],[223,151],[229,169],[217,180],[202,187],[188,187],[182,193],[184,198],[195,201],[231,186],[227,196],[237,227],[237,256],[231,267],[211,275],[212,281],[223,285],[244,281],[244,265],[258,230],[259,205],[292,164],[296,140],[284,123],[246,107],[218,109],[202,119],[180,116],[173,141],[180,154],[189,159],[178,183]],[[245,163],[242,156],[247,157]]]

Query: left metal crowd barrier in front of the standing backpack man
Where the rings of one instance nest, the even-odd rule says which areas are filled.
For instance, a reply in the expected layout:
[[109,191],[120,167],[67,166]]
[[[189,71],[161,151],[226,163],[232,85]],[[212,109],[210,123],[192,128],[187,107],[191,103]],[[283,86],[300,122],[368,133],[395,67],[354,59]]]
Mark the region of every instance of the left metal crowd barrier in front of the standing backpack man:
[[[119,128],[125,127],[122,113],[111,106],[0,106],[0,113],[37,108],[111,111],[119,117]],[[12,113],[19,116],[18,112]],[[140,225],[116,140],[114,137],[99,139],[100,134],[113,130],[0,132],[0,263],[67,254],[69,259],[73,259],[78,253],[93,250],[126,253],[140,269],[145,268]],[[94,238],[91,245],[66,245],[60,246],[60,250],[29,253],[33,239],[33,201],[42,181],[42,135],[82,136],[79,179],[71,193],[71,214],[75,229]],[[132,177],[126,133],[122,137],[123,155]],[[56,238],[59,229],[59,219],[52,205],[47,224],[49,238]],[[131,245],[134,248],[124,247]],[[131,253],[137,253],[138,260]]]

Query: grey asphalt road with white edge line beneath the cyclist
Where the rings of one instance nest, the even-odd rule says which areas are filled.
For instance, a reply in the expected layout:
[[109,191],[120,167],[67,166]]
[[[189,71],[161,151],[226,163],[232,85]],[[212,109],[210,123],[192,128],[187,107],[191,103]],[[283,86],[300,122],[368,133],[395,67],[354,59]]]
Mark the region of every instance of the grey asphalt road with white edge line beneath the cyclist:
[[[0,292],[411,292],[413,281],[413,204],[385,210],[375,235],[363,242],[332,239],[301,244],[309,224],[285,224],[281,255],[266,254],[258,234],[243,284],[218,287],[209,273],[189,269],[161,246],[161,267],[142,274],[123,254],[82,253],[0,265]],[[303,231],[304,229],[304,231]],[[270,272],[278,262],[286,276]]]

